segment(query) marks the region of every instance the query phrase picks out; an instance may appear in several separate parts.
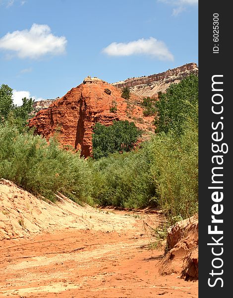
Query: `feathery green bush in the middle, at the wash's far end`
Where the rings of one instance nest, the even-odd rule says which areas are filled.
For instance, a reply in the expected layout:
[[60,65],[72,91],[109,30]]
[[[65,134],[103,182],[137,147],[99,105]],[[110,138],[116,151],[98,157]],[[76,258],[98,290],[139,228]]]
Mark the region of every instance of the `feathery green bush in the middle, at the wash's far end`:
[[155,194],[150,162],[146,150],[114,153],[95,161],[92,165],[94,201],[126,208],[150,205]]

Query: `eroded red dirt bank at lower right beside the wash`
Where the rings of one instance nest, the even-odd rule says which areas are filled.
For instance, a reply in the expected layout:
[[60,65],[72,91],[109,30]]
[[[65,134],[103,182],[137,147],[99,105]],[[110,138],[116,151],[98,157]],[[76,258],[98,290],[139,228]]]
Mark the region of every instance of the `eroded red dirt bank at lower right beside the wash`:
[[168,229],[167,250],[160,274],[177,273],[185,280],[198,279],[198,215]]

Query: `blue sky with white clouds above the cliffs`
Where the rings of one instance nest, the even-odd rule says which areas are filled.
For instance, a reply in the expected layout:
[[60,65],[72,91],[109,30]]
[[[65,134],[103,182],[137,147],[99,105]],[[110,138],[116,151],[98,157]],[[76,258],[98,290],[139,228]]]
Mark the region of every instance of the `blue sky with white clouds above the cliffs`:
[[0,84],[63,96],[87,75],[108,82],[198,64],[198,0],[0,0]]

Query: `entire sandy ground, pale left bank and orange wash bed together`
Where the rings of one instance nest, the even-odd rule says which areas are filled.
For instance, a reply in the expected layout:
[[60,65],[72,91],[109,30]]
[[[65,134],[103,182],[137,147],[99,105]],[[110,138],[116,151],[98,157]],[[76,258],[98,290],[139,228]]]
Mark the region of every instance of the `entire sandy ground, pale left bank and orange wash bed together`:
[[[0,189],[2,202],[5,186]],[[17,195],[14,185],[8,187]],[[18,205],[19,195],[9,198],[20,208],[17,214],[24,223],[18,224],[12,204],[1,206],[5,236],[0,241],[0,298],[198,297],[198,282],[158,272],[163,250],[149,249],[155,241],[149,226],[160,223],[160,214],[94,210],[64,199],[52,205],[56,215],[48,203],[40,202],[41,213],[34,209],[40,213],[39,221],[32,210],[24,208],[27,199]]]

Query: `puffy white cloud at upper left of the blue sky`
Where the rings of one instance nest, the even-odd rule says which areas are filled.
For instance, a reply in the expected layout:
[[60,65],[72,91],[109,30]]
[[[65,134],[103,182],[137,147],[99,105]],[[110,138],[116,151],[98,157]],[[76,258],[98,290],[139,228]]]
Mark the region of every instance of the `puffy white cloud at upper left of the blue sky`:
[[66,38],[53,35],[48,25],[33,24],[30,30],[8,32],[0,38],[0,49],[15,52],[20,59],[38,59],[64,54],[66,43]]

